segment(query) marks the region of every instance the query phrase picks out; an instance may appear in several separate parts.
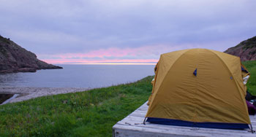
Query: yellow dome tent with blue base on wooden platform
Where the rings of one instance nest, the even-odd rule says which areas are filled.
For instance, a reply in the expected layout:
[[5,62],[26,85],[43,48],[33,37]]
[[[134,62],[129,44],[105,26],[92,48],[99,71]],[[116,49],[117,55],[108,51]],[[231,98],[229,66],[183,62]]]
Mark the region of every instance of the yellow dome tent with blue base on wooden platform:
[[207,49],[160,56],[147,122],[204,128],[249,128],[240,58]]

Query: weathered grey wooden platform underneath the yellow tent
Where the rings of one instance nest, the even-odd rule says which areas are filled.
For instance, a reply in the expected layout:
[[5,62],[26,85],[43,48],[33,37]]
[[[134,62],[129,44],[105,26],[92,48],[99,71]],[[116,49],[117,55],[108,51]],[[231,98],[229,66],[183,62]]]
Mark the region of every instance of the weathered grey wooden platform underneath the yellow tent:
[[[214,129],[214,128],[191,128],[181,127],[172,125],[157,125],[150,122],[146,122],[143,125],[143,120],[146,115],[148,106],[144,103],[132,114],[125,117],[113,126],[114,137],[138,137],[138,136],[254,136],[256,133],[251,133],[249,130],[225,130],[225,129]],[[256,117],[250,117],[252,127],[256,129]]]

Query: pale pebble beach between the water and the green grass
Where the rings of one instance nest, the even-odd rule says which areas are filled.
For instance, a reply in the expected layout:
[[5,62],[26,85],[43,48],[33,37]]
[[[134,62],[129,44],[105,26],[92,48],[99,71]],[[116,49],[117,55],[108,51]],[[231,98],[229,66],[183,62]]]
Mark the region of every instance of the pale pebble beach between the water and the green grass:
[[90,90],[85,87],[0,87],[0,93],[18,94],[8,103],[26,101],[31,98],[37,98],[46,95],[57,95],[64,93],[77,93]]

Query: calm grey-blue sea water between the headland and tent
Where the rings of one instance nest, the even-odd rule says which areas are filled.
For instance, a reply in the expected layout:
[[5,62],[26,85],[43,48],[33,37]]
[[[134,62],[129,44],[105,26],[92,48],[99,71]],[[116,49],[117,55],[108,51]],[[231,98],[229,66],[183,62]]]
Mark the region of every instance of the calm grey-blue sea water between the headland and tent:
[[0,87],[108,87],[154,75],[154,65],[58,65],[64,69],[0,74]]

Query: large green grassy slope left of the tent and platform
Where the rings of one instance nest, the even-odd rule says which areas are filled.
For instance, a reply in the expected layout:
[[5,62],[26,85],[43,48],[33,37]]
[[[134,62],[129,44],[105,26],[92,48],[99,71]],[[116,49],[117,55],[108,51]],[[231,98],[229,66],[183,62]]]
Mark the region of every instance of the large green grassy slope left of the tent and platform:
[[147,101],[152,79],[0,106],[0,136],[112,136]]

